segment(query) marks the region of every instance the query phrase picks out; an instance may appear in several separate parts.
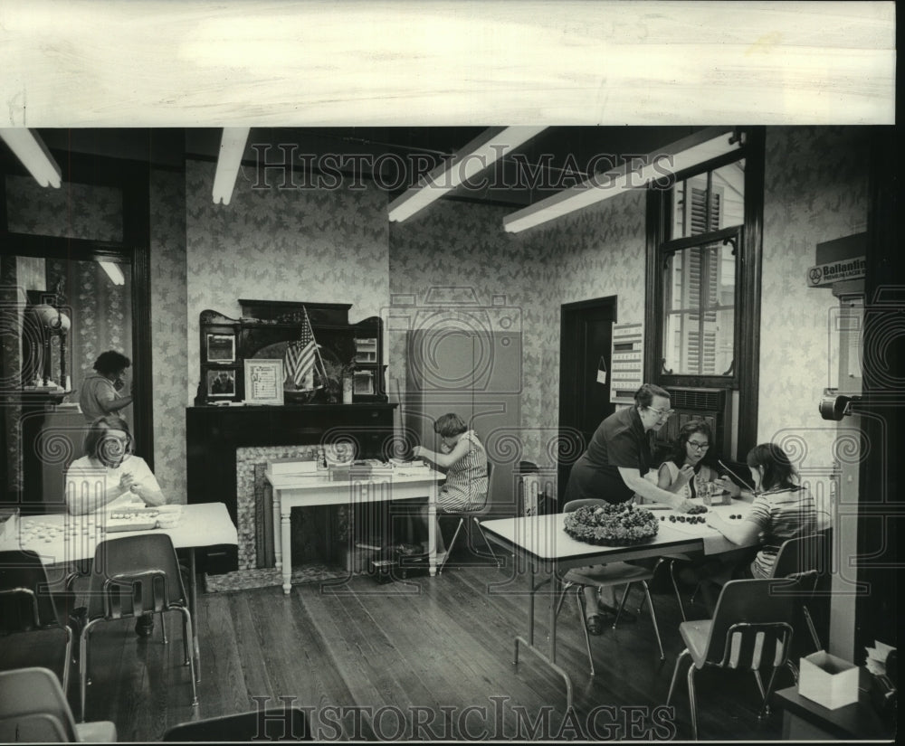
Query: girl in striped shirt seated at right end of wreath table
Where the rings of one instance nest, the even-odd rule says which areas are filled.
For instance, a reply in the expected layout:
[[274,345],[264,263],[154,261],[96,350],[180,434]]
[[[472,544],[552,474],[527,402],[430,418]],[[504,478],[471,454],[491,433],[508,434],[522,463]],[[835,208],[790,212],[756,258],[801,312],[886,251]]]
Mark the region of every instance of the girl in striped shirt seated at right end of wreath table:
[[696,580],[701,582],[701,592],[710,609],[714,608],[719,589],[726,582],[770,577],[782,543],[814,534],[817,528],[814,497],[801,486],[795,467],[783,449],[775,443],[762,443],[748,451],[746,461],[755,489],[748,514],[741,521],[730,523],[710,511],[707,524],[731,543],[739,546],[756,543],[757,547],[753,557],[748,553],[741,562],[716,557],[700,565]]

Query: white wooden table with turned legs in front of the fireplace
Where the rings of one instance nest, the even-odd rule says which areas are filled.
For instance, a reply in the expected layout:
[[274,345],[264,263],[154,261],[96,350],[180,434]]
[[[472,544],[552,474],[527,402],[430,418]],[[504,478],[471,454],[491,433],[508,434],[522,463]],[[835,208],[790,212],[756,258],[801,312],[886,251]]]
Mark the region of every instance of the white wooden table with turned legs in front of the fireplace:
[[306,505],[352,506],[427,497],[430,572],[432,576],[436,574],[437,489],[446,478],[440,472],[424,467],[395,467],[374,470],[366,478],[332,481],[323,473],[281,475],[268,468],[265,477],[273,488],[273,547],[276,566],[282,570],[284,593],[292,589],[291,512],[293,507]]

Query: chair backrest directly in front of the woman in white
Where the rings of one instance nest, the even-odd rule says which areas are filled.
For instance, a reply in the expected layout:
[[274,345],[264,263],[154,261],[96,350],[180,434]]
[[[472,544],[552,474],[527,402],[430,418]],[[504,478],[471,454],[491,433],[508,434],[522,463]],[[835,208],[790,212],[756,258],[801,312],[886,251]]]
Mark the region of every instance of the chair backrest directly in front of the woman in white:
[[94,552],[89,619],[122,619],[187,606],[176,550],[167,534],[109,539]]

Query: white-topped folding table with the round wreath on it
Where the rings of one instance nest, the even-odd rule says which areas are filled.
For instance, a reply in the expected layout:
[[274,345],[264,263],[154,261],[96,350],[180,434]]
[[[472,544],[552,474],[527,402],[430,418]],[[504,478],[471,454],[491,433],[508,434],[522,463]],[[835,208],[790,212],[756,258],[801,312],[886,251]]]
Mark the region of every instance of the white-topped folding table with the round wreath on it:
[[[649,506],[648,506],[649,507]],[[719,505],[710,508],[724,518],[729,515],[743,514],[748,509],[747,503],[735,501],[733,505]],[[660,523],[660,530],[653,538],[633,546],[595,546],[579,542],[569,536],[563,528],[565,514],[529,515],[519,518],[498,518],[482,521],[481,528],[494,543],[512,552],[519,564],[519,570],[525,565],[529,571],[529,609],[528,637],[515,637],[515,663],[519,663],[519,644],[527,647],[540,660],[553,669],[566,683],[567,706],[572,706],[572,681],[565,669],[557,666],[557,592],[555,581],[557,571],[566,571],[573,567],[586,567],[606,562],[624,562],[640,560],[646,557],[662,557],[664,554],[685,552],[705,552],[708,554],[728,552],[738,549],[738,545],[730,543],[718,531],[706,524],[672,524],[670,515],[681,515],[672,510],[653,510],[653,514],[664,515],[666,520]],[[544,576],[537,581],[537,575]],[[549,652],[544,653],[534,644],[534,601],[537,591],[549,583],[550,587],[550,632]]]

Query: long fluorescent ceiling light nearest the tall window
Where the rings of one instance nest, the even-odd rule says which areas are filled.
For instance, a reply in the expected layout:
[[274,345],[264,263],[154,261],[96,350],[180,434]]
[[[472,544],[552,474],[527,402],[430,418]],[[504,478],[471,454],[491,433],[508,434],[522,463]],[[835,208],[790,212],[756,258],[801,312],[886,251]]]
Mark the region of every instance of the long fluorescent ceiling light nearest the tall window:
[[729,142],[732,132],[733,127],[707,127],[648,156],[637,158],[634,163],[627,163],[605,174],[592,175],[582,184],[506,215],[503,228],[510,233],[518,233],[738,150],[738,140]]

